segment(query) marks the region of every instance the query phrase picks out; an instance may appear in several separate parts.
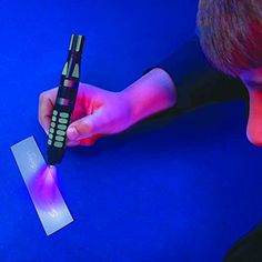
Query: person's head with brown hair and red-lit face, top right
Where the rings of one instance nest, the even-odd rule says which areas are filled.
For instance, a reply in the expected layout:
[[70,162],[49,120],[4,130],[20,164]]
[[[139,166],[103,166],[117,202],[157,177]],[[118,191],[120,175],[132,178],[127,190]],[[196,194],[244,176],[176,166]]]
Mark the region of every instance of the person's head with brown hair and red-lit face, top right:
[[198,29],[208,60],[248,88],[248,138],[262,145],[262,0],[200,0]]

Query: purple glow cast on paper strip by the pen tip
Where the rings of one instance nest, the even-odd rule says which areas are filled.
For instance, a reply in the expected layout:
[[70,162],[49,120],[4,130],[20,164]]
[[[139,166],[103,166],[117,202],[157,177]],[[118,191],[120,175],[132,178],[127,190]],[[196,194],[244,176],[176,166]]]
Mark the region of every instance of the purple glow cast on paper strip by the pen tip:
[[42,210],[52,210],[57,206],[61,196],[57,187],[57,170],[44,165],[36,174],[29,184],[36,204]]

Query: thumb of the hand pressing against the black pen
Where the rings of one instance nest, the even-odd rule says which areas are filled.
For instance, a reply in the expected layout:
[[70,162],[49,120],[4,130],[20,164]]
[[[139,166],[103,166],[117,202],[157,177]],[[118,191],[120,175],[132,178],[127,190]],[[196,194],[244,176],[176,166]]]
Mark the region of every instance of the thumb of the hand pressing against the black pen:
[[98,110],[93,114],[72,122],[67,131],[68,139],[77,141],[101,132],[102,122],[100,114],[101,112]]

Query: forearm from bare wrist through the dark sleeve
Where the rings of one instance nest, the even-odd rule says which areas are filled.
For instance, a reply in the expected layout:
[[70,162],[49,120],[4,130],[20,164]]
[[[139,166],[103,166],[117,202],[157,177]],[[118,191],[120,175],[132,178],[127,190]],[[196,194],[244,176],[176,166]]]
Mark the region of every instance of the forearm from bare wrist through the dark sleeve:
[[209,64],[196,37],[121,93],[130,103],[131,124],[172,107],[175,114],[206,103],[248,99],[240,80]]

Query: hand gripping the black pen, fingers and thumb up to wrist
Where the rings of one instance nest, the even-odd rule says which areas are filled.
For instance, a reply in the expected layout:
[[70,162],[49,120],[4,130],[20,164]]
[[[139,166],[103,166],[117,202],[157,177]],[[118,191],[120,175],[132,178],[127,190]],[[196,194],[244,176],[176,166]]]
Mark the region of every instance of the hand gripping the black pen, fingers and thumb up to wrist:
[[[39,98],[39,122],[48,133],[58,88]],[[92,145],[99,138],[119,133],[131,122],[131,108],[122,92],[111,92],[80,83],[75,107],[67,131],[67,145]]]

